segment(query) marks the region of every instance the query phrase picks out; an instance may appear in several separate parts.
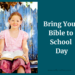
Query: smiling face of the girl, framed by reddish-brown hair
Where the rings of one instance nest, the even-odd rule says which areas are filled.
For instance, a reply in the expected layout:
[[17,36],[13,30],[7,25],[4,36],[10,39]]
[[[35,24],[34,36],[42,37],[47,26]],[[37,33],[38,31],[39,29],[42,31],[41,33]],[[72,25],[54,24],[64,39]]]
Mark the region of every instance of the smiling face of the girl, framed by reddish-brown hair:
[[14,15],[9,20],[9,24],[11,25],[11,28],[19,28],[19,26],[22,24],[22,21],[20,20],[20,16]]

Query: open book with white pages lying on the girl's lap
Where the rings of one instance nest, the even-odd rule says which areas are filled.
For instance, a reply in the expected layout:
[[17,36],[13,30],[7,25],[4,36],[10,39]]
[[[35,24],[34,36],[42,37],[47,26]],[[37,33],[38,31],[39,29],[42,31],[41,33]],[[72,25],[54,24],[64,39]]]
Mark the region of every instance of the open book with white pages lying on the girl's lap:
[[26,58],[22,55],[23,55],[23,51],[20,51],[20,50],[17,50],[17,51],[14,51],[14,52],[3,51],[0,60],[5,59],[5,60],[13,61],[14,59],[21,58],[26,62]]

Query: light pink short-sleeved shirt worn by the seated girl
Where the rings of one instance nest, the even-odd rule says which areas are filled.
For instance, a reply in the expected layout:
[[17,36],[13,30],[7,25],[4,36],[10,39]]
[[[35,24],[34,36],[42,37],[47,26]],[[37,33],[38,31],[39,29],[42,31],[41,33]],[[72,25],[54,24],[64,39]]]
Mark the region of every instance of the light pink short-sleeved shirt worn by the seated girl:
[[0,32],[0,39],[5,39],[3,51],[22,51],[22,40],[28,39],[28,33],[23,30],[19,30],[18,37],[13,38],[10,36],[9,29],[7,29]]

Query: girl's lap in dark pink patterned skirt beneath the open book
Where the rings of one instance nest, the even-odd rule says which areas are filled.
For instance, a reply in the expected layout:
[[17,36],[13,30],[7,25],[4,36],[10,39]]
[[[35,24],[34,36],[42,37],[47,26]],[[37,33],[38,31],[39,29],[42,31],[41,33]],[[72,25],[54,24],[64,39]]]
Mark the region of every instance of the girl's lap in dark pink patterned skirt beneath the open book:
[[0,61],[0,69],[2,69],[3,71],[7,73],[14,72],[15,70],[18,69],[20,65],[22,65],[23,67],[25,66],[25,62],[21,58],[13,60],[13,61],[8,61],[8,60]]

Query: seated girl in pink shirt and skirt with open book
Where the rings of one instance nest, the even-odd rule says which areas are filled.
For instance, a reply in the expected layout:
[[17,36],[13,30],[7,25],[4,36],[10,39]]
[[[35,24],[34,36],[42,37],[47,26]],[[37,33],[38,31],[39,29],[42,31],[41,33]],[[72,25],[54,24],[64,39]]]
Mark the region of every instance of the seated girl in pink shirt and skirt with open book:
[[0,33],[0,57],[2,56],[3,51],[23,51],[26,62],[21,58],[12,62],[1,60],[0,69],[2,70],[2,73],[13,73],[15,70],[17,70],[17,73],[31,73],[27,46],[28,33],[19,30],[19,27],[21,27],[22,24],[21,14],[18,12],[12,13],[8,22],[10,24],[9,29],[1,31]]

